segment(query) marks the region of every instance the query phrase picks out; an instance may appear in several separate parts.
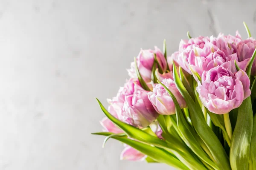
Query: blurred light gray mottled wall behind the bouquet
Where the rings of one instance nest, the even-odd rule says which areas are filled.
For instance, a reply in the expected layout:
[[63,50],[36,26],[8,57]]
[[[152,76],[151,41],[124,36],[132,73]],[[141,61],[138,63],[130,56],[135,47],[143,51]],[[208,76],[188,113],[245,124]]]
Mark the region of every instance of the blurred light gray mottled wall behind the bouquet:
[[170,170],[119,161],[91,132],[140,48],[192,36],[256,35],[256,1],[1,0],[0,170]]

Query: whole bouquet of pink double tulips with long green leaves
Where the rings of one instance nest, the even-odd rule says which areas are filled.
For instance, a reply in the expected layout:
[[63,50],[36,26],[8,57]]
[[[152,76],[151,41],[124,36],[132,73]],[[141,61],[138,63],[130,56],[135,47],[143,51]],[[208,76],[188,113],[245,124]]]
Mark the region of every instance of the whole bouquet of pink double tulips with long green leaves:
[[[178,51],[141,50],[93,133],[121,159],[180,170],[256,170],[256,40],[188,35]],[[103,145],[104,145],[103,144]]]

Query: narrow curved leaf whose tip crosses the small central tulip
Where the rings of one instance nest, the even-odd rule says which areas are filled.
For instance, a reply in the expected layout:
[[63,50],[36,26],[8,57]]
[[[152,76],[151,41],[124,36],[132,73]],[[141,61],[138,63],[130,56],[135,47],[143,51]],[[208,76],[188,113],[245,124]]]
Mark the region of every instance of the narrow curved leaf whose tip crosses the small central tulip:
[[207,164],[209,164],[215,170],[218,170],[218,167],[214,164],[214,162],[211,159],[208,158],[207,154],[204,152],[204,150],[198,144],[198,141],[195,138],[197,136],[197,134],[194,131],[194,129],[186,121],[186,119],[180,109],[180,105],[179,105],[176,97],[174,96],[174,94],[172,94],[172,92],[165,85],[163,85],[163,83],[161,83],[159,81],[158,81],[158,83],[160,85],[162,85],[163,88],[166,89],[166,91],[172,97],[172,100],[175,104],[177,127],[178,127],[178,131],[180,132],[180,137],[200,159],[205,161]]

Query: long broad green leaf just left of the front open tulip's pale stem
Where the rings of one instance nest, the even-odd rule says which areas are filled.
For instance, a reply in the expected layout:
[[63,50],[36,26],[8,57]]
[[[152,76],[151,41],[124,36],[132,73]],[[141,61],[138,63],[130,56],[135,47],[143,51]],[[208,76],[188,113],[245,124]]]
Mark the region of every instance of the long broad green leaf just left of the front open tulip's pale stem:
[[218,137],[205,122],[200,105],[193,101],[192,97],[189,95],[188,91],[182,84],[177,73],[175,63],[173,63],[173,65],[174,81],[178,90],[180,91],[180,94],[186,100],[186,104],[189,108],[190,118],[195,131],[209,148],[214,158],[215,164],[217,164],[221,170],[230,170],[231,168],[226,151],[222,147]]

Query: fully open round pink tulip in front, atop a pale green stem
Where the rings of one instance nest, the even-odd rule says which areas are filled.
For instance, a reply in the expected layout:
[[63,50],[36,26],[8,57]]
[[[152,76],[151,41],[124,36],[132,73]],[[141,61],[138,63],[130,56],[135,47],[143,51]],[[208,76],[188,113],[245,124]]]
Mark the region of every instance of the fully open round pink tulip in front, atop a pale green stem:
[[233,74],[230,69],[217,66],[204,71],[201,79],[197,91],[204,106],[212,113],[228,113],[251,94],[250,79],[243,70]]

